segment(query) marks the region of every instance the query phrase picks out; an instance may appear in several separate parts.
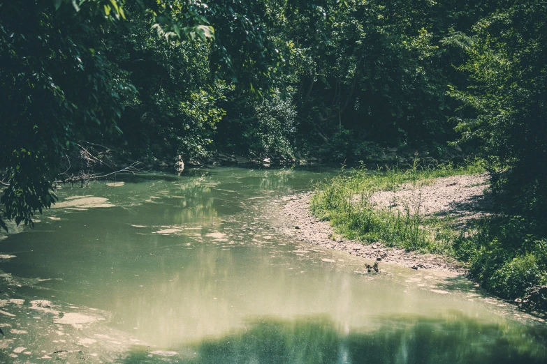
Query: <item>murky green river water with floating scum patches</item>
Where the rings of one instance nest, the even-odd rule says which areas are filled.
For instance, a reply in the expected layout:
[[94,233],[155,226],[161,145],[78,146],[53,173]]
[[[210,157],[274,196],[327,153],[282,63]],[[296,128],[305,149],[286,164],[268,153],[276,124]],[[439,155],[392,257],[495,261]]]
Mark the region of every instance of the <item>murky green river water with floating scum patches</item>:
[[547,361],[545,324],[463,278],[362,273],[362,259],[280,234],[283,197],[333,173],[66,186],[35,229],[0,241],[14,256],[0,259],[0,362]]

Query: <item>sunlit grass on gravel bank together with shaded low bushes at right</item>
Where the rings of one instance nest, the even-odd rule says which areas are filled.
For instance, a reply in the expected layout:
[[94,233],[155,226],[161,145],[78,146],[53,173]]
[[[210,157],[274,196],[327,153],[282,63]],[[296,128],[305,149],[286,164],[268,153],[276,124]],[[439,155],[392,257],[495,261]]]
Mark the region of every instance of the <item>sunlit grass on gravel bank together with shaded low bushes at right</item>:
[[[503,298],[523,297],[530,287],[547,284],[547,239],[534,233],[541,222],[498,214],[467,222],[464,230],[450,216],[425,215],[419,193],[402,208],[372,202],[375,192],[396,192],[405,183],[419,191],[436,178],[484,172],[480,160],[423,167],[418,158],[407,169],[357,168],[319,183],[310,208],[316,218],[330,220],[337,234],[456,258],[481,287]],[[542,302],[547,305],[547,298]]]

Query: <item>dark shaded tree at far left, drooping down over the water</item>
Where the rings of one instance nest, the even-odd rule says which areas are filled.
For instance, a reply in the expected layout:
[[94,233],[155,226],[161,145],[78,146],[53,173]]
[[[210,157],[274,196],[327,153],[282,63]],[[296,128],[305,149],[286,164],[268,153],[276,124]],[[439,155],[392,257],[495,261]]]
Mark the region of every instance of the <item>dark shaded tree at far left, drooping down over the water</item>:
[[62,1],[0,4],[0,169],[7,186],[0,203],[3,218],[17,225],[54,202],[56,161],[72,143],[90,130],[119,131],[123,90],[90,31],[108,24],[96,16],[99,2],[89,5],[83,15]]

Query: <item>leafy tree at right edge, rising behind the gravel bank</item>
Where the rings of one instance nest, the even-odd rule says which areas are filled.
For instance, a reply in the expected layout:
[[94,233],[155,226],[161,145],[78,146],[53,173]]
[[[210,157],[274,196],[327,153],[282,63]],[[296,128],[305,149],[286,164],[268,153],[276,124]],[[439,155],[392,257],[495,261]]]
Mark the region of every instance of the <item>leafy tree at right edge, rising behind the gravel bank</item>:
[[519,196],[513,205],[539,216],[547,202],[547,7],[539,0],[499,5],[471,36],[446,38],[467,54],[458,69],[471,82],[452,86],[450,95],[467,108],[457,130],[461,141],[481,144],[494,190]]

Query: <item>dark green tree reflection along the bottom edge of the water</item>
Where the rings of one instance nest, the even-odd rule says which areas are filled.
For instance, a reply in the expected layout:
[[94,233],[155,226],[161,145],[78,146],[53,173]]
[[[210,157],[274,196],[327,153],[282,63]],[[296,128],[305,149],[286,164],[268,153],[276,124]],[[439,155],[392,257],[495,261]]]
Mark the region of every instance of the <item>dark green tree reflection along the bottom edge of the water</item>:
[[[180,348],[182,363],[545,363],[545,331],[445,317],[383,317],[379,328],[342,333],[328,317],[255,319],[221,338]],[[166,353],[161,353],[163,356]],[[168,354],[168,353],[167,353]],[[133,351],[124,363],[161,355]]]

